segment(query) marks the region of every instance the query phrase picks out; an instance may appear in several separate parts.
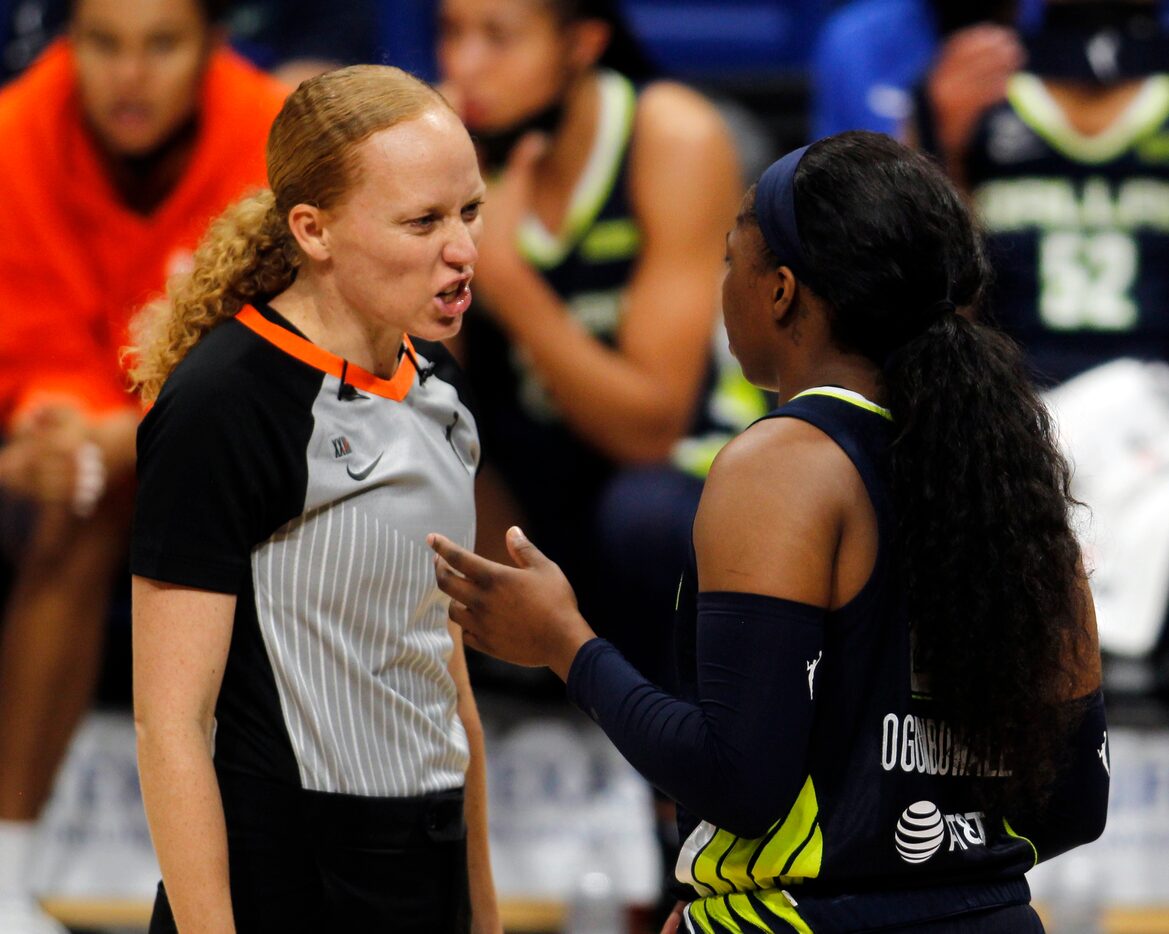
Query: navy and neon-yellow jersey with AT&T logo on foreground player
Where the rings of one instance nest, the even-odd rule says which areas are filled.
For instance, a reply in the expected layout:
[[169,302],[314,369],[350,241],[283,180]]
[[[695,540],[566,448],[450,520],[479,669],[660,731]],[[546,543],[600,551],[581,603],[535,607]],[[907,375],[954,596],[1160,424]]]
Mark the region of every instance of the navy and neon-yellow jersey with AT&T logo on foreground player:
[[[767,417],[800,418],[849,456],[877,513],[877,561],[846,606],[826,615],[807,664],[814,700],[807,779],[787,814],[755,839],[679,814],[677,878],[697,897],[691,930],[900,929],[961,912],[1026,904],[1036,859],[975,803],[973,780],[1004,773],[934,711],[913,672],[893,569],[886,480],[890,413],[844,389],[797,395]],[[697,573],[678,600],[683,696],[697,700]],[[783,717],[783,711],[760,711]]]

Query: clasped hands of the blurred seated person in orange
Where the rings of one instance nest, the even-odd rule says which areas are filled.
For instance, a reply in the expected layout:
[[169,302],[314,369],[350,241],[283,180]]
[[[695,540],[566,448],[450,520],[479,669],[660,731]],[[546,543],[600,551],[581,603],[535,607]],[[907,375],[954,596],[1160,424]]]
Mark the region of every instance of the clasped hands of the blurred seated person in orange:
[[105,489],[105,466],[89,429],[87,417],[69,403],[25,413],[0,449],[0,486],[36,503],[90,514]]

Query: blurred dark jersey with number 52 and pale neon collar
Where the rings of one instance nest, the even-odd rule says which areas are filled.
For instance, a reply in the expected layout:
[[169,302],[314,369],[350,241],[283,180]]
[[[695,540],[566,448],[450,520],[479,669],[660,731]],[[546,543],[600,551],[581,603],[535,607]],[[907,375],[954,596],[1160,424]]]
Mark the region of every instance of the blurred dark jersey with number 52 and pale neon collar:
[[1169,359],[1169,76],[1084,137],[1018,74],[980,120],[966,173],[997,279],[991,313],[1042,379]]

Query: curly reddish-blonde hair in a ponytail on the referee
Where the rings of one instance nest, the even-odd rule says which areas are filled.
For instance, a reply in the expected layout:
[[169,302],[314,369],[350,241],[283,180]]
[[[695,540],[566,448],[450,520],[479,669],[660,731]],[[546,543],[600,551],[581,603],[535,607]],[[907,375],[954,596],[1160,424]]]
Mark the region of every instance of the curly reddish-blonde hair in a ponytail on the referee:
[[268,136],[268,184],[223,212],[189,272],[131,324],[123,352],[131,382],[153,402],[167,376],[212,328],[256,299],[284,291],[300,251],[289,230],[297,205],[336,207],[358,181],[358,146],[381,130],[449,105],[429,84],[390,65],[352,65],[293,91]]

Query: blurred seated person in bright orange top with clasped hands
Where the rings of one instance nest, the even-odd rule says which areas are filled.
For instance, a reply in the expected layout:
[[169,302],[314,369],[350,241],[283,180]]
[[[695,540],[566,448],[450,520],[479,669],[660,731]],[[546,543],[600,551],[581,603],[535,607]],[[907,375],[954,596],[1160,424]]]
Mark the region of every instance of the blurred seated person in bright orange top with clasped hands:
[[33,901],[36,818],[92,692],[124,562],[139,407],[119,348],[210,217],[264,179],[284,89],[217,42],[215,0],[76,0],[0,91],[0,930]]

